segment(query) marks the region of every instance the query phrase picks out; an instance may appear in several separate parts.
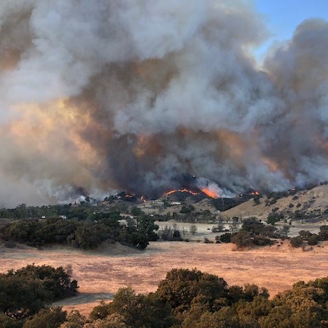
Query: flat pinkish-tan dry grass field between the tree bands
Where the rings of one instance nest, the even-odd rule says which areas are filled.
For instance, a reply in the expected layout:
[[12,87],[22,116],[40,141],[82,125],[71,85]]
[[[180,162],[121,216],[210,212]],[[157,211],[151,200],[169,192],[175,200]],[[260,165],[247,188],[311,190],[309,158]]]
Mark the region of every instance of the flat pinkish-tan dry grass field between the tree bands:
[[27,264],[72,265],[81,295],[59,303],[87,314],[100,299],[110,299],[118,288],[132,286],[137,292],[156,290],[172,268],[197,268],[226,279],[228,284],[254,283],[271,295],[290,288],[298,280],[308,281],[328,273],[328,243],[302,251],[288,242],[249,251],[234,251],[232,244],[155,242],[146,251],[119,244],[103,245],[97,252],[64,247],[37,250],[0,247],[0,271]]

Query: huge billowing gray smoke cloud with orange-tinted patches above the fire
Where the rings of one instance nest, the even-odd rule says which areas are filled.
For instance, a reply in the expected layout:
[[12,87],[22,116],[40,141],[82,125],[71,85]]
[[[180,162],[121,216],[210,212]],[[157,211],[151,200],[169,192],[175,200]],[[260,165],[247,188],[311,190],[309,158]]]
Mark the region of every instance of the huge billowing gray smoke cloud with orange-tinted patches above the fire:
[[1,0],[0,205],[328,180],[328,23],[265,38],[246,0]]

